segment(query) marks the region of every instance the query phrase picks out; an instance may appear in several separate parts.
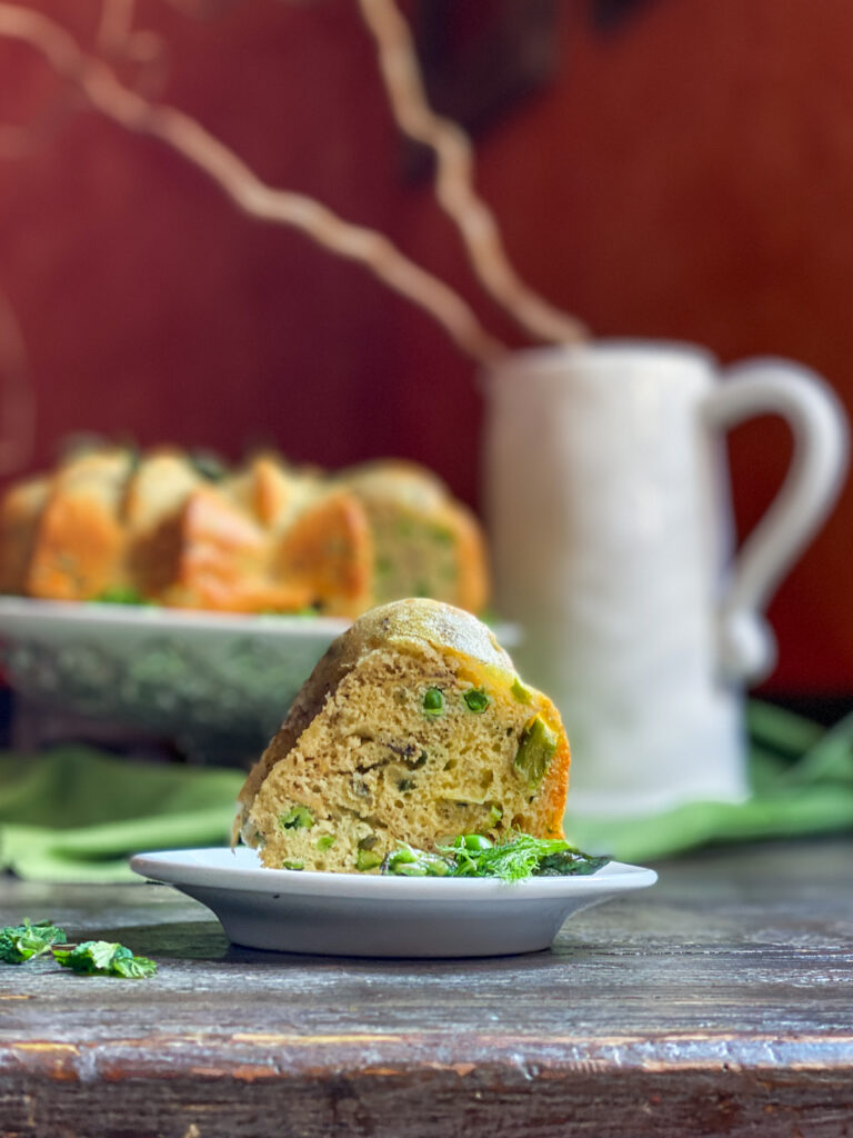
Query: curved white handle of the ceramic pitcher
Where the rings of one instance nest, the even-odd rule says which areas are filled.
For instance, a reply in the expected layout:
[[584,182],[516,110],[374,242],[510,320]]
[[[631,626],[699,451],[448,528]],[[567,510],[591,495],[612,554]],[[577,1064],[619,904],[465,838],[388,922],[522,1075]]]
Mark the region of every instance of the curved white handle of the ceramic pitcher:
[[719,611],[719,653],[727,679],[759,679],[776,662],[776,640],[763,609],[788,567],[823,521],[847,467],[847,424],[840,402],[813,371],[787,360],[747,360],[706,398],[712,427],[755,414],[779,414],[794,435],[785,481],[739,550]]

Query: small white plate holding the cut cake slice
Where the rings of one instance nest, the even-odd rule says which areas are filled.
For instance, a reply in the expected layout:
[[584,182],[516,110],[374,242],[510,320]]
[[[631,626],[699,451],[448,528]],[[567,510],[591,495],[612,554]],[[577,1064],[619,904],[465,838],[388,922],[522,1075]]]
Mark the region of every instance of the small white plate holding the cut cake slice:
[[131,858],[135,873],[212,909],[235,945],[324,956],[504,956],[548,948],[574,913],[653,885],[612,861],[579,877],[392,877],[265,869],[255,850],[169,850]]

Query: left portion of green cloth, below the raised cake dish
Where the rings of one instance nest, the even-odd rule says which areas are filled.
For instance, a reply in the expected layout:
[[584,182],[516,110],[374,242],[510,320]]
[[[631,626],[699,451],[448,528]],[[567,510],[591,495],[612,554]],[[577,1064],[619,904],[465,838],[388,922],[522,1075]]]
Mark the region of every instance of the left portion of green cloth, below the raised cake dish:
[[30,881],[139,881],[131,853],[226,842],[245,777],[86,747],[0,754],[0,869]]

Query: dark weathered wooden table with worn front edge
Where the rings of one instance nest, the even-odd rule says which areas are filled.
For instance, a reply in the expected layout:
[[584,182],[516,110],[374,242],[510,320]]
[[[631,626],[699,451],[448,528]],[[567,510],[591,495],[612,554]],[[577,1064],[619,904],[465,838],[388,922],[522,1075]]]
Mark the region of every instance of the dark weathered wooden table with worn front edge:
[[712,851],[554,950],[439,963],[230,947],[165,887],[5,881],[0,923],[156,957],[0,970],[0,1132],[129,1138],[853,1135],[853,843]]

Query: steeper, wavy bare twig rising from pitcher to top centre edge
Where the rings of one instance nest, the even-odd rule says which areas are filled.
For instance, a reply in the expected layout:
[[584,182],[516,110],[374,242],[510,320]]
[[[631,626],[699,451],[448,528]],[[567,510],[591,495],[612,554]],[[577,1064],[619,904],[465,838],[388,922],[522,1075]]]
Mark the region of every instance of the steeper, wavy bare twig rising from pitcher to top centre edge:
[[358,0],[376,43],[379,64],[400,130],[436,155],[436,197],[458,226],[481,284],[521,328],[539,339],[572,343],[585,327],[519,278],[495,217],[473,187],[473,149],[464,131],[429,105],[408,24],[395,0]]

